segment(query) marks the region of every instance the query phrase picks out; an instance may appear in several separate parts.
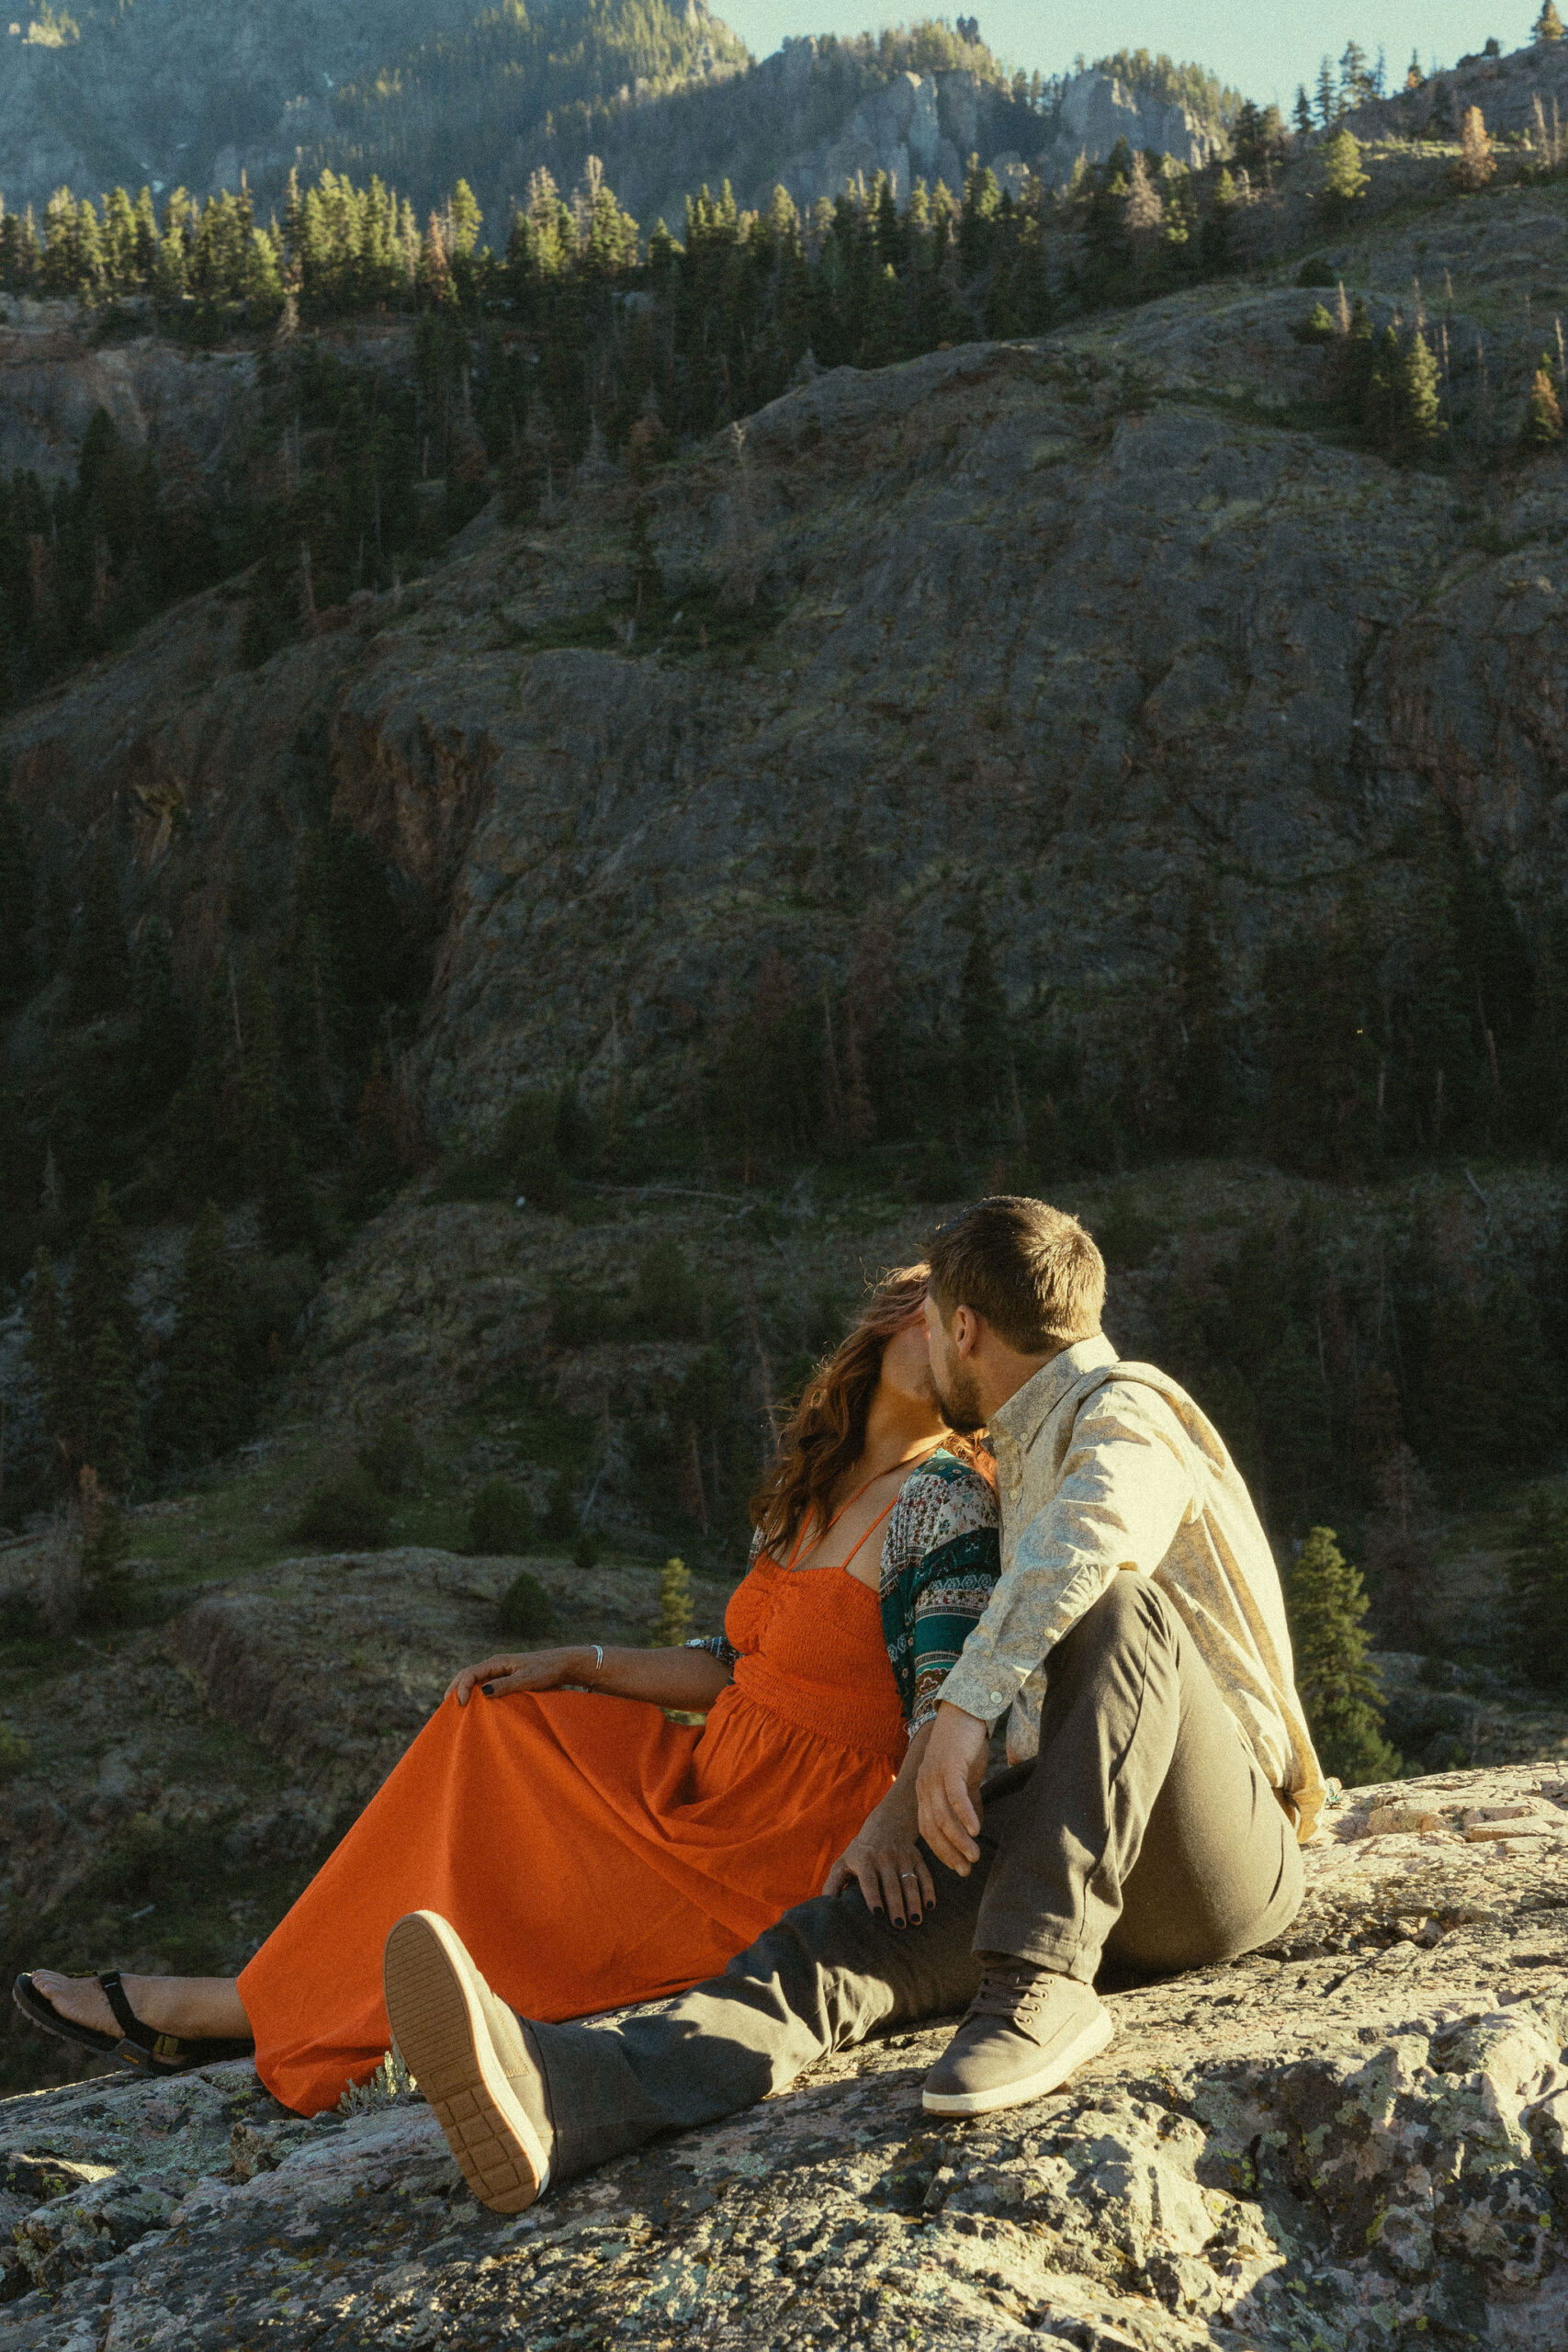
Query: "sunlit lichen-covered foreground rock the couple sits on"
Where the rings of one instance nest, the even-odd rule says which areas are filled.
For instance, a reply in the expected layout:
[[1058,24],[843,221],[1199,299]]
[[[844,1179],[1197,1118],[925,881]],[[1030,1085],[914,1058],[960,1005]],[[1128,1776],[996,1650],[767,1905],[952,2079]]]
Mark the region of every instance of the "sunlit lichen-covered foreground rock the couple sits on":
[[1540,1769],[1359,1790],[1288,1936],[1112,1994],[1053,2098],[924,2117],[933,2023],[517,2220],[390,2084],[313,2124],[242,2065],[7,2100],[0,2347],[1556,2352],[1566,1804]]

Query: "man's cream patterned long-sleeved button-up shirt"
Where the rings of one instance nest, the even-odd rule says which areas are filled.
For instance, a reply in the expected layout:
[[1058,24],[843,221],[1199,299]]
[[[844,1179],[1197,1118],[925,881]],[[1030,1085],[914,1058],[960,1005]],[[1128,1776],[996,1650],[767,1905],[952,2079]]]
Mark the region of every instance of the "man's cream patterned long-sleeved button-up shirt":
[[1295,1696],[1279,1569],[1213,1423],[1164,1371],[1086,1338],[1009,1397],[990,1437],[1001,1581],[940,1696],[985,1722],[1006,1715],[1009,1759],[1032,1757],[1051,1649],[1117,1571],[1152,1576],[1309,1839],[1324,1773]]

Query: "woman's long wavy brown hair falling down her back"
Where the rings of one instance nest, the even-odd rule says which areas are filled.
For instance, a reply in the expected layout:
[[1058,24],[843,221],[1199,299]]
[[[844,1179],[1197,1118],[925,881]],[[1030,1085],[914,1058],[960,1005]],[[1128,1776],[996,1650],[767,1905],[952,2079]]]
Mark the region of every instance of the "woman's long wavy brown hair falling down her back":
[[[846,1341],[823,1357],[790,1414],[773,1468],[752,1496],[752,1526],[773,1552],[785,1552],[809,1519],[827,1524],[832,1496],[849,1468],[865,1451],[865,1416],[870,1414],[882,1350],[907,1324],[919,1322],[931,1268],[896,1265],[865,1301],[860,1322]],[[947,1437],[964,1461],[976,1446]]]

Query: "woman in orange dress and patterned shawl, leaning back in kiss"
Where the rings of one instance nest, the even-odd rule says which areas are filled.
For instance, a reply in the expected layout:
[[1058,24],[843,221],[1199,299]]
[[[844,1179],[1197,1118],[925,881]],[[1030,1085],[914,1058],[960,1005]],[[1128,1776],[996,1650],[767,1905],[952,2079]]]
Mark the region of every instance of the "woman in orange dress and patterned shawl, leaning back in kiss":
[[254,2037],[275,2098],[317,2114],[386,2053],[381,1952],[411,1910],[534,2018],[682,1992],[825,1879],[919,1917],[914,1771],[999,1571],[994,1494],[931,1390],[924,1282],[889,1275],[806,1388],[722,1637],[465,1668],[237,1980],[35,1971],[24,2013],[143,2072]]

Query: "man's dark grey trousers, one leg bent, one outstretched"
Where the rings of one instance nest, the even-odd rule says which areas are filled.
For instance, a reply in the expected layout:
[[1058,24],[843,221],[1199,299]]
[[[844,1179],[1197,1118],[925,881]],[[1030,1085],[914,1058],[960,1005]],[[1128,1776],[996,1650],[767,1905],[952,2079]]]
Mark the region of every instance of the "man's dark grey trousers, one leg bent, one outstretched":
[[1051,1651],[1039,1757],[983,1790],[969,1877],[926,1853],[936,1905],[893,1929],[860,1889],[792,1912],[654,2013],[534,2025],[552,2178],[712,2124],[825,2051],[966,2009],[983,1955],[1079,1983],[1234,1959],[1302,1898],[1295,1830],[1159,1585],[1121,1573]]

